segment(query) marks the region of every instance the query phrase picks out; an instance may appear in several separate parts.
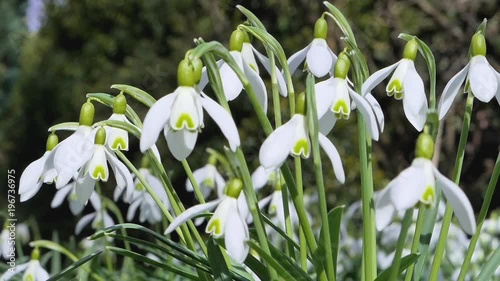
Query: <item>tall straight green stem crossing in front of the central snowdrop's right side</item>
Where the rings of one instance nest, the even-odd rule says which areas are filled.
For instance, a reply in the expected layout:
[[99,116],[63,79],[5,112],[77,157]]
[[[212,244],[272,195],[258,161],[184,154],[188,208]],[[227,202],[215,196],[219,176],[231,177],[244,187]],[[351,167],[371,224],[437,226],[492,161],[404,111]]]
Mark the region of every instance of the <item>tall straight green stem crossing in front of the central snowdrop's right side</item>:
[[[314,161],[314,173],[316,175],[316,185],[318,186],[319,195],[319,207],[321,214],[321,222],[323,223],[321,230],[323,231],[323,241],[321,241],[326,255],[326,275],[328,280],[335,280],[335,270],[333,268],[333,254],[332,254],[332,242],[330,239],[330,226],[328,221],[328,206],[326,202],[326,192],[325,185],[323,182],[323,166],[321,163],[321,155],[319,152],[319,125],[318,125],[318,113],[316,111],[316,93],[314,92],[314,76],[309,73],[306,80],[306,98],[307,98],[307,113],[308,113],[308,126],[309,134],[311,135],[312,143],[312,155]],[[297,189],[299,190],[299,196],[302,195],[300,192],[299,185],[297,184]]]

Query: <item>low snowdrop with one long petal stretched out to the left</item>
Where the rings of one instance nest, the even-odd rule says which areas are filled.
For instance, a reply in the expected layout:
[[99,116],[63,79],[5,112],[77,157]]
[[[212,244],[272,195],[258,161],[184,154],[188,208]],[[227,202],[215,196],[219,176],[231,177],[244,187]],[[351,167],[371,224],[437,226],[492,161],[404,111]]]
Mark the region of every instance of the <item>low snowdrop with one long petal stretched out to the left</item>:
[[245,221],[246,214],[242,213],[240,201],[238,201],[242,188],[243,182],[240,179],[231,180],[222,198],[187,209],[170,223],[165,234],[171,233],[197,214],[217,207],[208,221],[205,232],[212,234],[215,238],[224,237],[229,256],[235,262],[243,263],[250,250],[247,244],[250,235]]

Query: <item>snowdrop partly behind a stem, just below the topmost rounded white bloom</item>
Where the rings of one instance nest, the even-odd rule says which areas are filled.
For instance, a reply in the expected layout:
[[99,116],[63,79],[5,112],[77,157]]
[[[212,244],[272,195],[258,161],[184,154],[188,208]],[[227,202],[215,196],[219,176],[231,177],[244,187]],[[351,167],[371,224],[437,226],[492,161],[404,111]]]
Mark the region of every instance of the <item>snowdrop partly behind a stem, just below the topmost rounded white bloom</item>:
[[[378,120],[374,109],[364,97],[347,85],[346,79],[350,66],[351,63],[347,55],[344,52],[340,53],[334,66],[333,77],[317,83],[314,87],[318,117],[320,118],[320,132],[327,135],[337,119],[349,119],[352,98],[352,105],[357,107],[363,115],[372,139],[378,140]],[[375,103],[378,104],[376,101]],[[383,128],[383,124],[380,124],[380,127]]]

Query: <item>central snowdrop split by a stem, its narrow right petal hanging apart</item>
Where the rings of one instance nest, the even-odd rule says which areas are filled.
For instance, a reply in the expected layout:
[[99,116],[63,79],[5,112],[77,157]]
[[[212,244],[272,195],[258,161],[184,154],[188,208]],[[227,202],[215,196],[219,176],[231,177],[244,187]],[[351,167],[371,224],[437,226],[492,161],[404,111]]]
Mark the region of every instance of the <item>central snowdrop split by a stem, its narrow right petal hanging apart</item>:
[[[268,173],[278,170],[289,154],[309,158],[311,141],[306,116],[304,115],[305,95],[303,93],[297,96],[296,109],[297,113],[288,122],[272,132],[260,147],[259,161]],[[345,181],[344,168],[337,149],[321,133],[319,133],[319,145],[330,158],[335,176],[343,183]]]

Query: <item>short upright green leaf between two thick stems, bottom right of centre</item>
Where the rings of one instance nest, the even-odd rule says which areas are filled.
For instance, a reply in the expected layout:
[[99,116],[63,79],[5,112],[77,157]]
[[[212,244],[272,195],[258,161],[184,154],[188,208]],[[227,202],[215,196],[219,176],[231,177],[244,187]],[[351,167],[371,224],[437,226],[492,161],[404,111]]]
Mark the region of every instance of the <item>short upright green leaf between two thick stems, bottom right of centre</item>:
[[[337,275],[337,258],[340,248],[340,225],[342,223],[342,213],[344,212],[344,208],[345,206],[338,206],[328,213],[328,226],[330,228],[329,231],[333,255],[333,270],[335,272],[335,275]],[[323,229],[321,229],[320,231],[318,249],[316,249],[316,252],[313,255],[316,261],[324,260],[326,254],[325,245],[323,245],[322,241]]]

